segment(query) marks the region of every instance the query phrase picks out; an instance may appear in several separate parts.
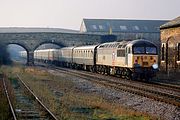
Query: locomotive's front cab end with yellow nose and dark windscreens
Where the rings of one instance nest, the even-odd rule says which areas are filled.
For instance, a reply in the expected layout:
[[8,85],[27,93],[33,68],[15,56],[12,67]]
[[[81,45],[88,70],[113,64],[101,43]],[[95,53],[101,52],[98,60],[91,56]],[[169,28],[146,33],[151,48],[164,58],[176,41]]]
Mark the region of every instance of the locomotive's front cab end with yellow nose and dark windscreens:
[[126,63],[135,74],[145,79],[158,71],[157,46],[146,40],[135,40],[126,46]]

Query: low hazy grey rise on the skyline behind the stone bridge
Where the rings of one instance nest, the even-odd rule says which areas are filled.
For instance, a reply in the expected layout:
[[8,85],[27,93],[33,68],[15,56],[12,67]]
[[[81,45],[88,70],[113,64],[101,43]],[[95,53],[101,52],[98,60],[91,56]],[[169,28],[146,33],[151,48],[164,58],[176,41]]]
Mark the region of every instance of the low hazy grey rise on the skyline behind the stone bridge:
[[61,29],[61,28],[0,27],[0,33],[37,33],[37,32],[78,33],[79,31]]

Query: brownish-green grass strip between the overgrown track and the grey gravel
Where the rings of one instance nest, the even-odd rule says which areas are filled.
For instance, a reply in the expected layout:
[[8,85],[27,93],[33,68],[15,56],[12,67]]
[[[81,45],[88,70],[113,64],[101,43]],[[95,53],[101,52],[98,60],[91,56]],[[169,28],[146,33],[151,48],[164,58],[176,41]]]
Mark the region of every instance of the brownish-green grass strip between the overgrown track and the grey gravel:
[[20,77],[40,100],[61,120],[149,120],[146,113],[124,108],[103,97],[76,89],[69,76],[52,75],[46,70],[23,66],[1,68],[9,78]]

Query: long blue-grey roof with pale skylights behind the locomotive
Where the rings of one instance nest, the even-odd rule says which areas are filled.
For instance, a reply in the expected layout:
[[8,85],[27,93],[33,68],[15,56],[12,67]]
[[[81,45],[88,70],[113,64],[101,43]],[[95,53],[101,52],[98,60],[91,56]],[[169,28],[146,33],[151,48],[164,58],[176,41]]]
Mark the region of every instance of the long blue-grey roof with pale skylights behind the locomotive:
[[[160,32],[167,20],[83,19],[81,32]],[[82,30],[82,28],[84,30]]]

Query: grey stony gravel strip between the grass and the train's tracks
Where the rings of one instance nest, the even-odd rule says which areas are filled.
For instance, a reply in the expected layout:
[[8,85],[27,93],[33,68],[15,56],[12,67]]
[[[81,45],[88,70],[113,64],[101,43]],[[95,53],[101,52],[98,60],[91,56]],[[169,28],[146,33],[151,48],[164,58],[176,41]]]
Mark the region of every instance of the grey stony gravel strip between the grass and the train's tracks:
[[[64,74],[54,70],[49,70],[49,72],[54,75],[64,76]],[[180,108],[174,105],[157,102],[146,97],[117,91],[112,88],[105,88],[74,76],[66,75],[66,78],[72,80],[76,85],[76,89],[81,92],[97,94],[110,102],[119,103],[124,107],[151,114],[159,119],[180,120]]]

